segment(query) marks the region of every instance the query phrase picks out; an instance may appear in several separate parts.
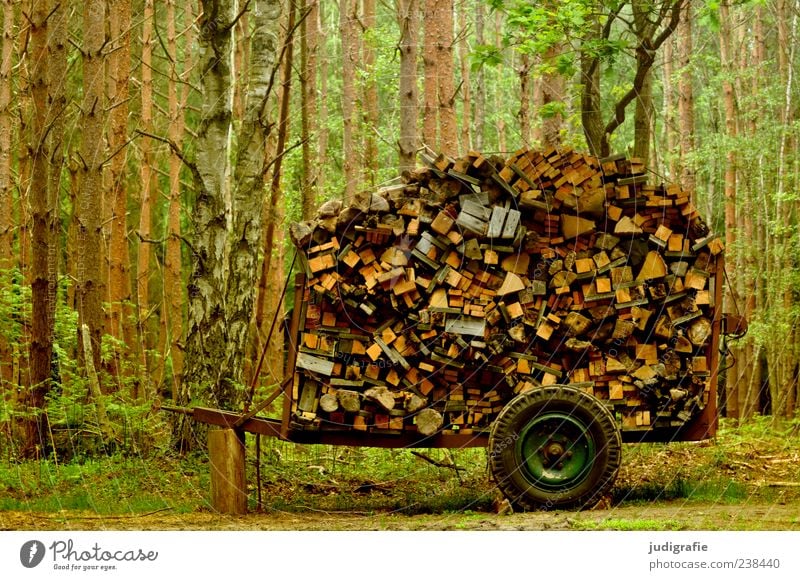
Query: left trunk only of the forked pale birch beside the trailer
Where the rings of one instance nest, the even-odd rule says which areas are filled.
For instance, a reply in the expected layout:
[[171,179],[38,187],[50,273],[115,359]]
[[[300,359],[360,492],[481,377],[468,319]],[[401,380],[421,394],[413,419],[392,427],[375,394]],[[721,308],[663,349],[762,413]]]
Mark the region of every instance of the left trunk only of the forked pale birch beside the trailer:
[[[228,341],[225,312],[228,231],[232,228],[230,159],[233,106],[232,30],[234,0],[203,0],[199,69],[202,94],[197,158],[193,167],[196,201],[192,212],[192,271],[188,282],[186,364],[178,404],[193,398],[233,408],[236,397],[223,364]],[[195,442],[179,420],[177,446]]]

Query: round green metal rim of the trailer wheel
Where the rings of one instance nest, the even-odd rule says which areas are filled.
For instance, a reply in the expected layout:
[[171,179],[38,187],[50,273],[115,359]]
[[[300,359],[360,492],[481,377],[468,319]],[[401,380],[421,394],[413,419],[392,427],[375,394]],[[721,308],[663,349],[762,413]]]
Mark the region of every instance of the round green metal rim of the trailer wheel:
[[525,425],[516,441],[521,471],[535,487],[572,489],[592,469],[595,444],[586,426],[570,415],[546,412]]

